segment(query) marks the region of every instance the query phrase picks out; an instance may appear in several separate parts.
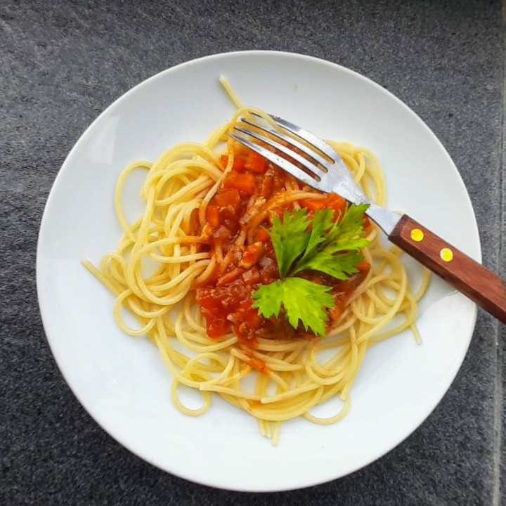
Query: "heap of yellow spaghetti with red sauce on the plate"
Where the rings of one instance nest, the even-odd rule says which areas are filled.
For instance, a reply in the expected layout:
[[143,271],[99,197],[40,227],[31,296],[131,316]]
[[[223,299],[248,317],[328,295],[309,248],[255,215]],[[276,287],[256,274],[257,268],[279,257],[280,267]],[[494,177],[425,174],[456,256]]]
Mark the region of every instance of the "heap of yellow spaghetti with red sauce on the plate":
[[[128,335],[145,335],[157,346],[173,376],[170,393],[176,408],[186,415],[201,415],[214,392],[257,417],[261,434],[275,444],[285,420],[303,416],[331,424],[346,414],[351,385],[370,346],[408,328],[420,339],[415,327],[417,301],[429,275],[424,273],[422,286],[413,293],[401,251],[383,247],[379,229],[370,223],[366,229],[370,246],[363,251],[367,268],[355,276],[338,310],[331,311],[332,325],[325,339],[294,329],[286,332],[283,322],[284,326],[276,326],[272,320],[271,327],[241,326],[250,320],[238,321],[235,309],[220,320],[221,327],[220,322],[213,327],[218,310],[212,304],[223,306],[219,306],[223,290],[230,295],[231,287],[238,287],[236,299],[243,301],[249,293],[240,291],[240,283],[234,285],[237,280],[246,288],[245,279],[257,285],[268,268],[275,279],[265,233],[272,217],[301,206],[311,212],[311,206],[329,202],[328,196],[263,160],[263,172],[255,171],[253,155],[228,137],[238,117],[250,112],[251,108],[238,110],[205,143],[176,145],[153,164],[135,162],[126,167],[115,191],[122,238],[98,268],[87,260],[83,263],[115,295],[119,328]],[[384,181],[375,156],[349,143],[329,143],[365,195],[384,205]],[[244,160],[241,173],[238,168]],[[139,168],[147,170],[141,190],[145,210],[128,223],[122,188],[129,174]],[[226,188],[225,181],[235,173],[250,176],[253,190],[242,183]],[[271,188],[262,195],[268,177]],[[250,261],[240,264],[248,254]],[[150,273],[146,273],[148,268]],[[122,308],[138,320],[138,328],[126,325]],[[254,317],[256,311],[247,309]],[[200,408],[184,406],[181,385],[200,391]],[[311,414],[312,408],[335,396],[344,401],[339,413],[325,419]]]

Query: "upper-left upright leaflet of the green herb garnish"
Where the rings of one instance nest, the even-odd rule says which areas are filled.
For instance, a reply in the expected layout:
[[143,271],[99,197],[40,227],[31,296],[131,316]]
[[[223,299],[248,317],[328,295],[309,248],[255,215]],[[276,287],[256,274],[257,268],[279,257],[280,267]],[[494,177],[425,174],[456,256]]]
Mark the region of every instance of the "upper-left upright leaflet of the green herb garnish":
[[310,237],[308,227],[306,209],[297,209],[291,214],[285,210],[283,221],[274,216],[270,235],[280,278],[285,278],[294,260],[306,249]]

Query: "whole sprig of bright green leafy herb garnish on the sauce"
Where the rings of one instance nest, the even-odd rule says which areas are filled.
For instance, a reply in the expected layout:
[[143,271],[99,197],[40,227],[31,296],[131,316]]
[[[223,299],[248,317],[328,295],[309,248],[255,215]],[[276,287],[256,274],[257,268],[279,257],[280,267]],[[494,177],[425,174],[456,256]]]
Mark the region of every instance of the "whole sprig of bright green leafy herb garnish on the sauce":
[[[278,315],[283,306],[292,327],[299,320],[306,331],[325,335],[327,311],[334,306],[332,287],[320,285],[297,276],[302,271],[320,271],[338,280],[347,280],[358,272],[356,266],[363,260],[360,250],[370,242],[361,237],[364,212],[368,205],[351,205],[341,219],[332,221],[332,209],[318,210],[313,220],[307,209],[292,213],[285,211],[283,221],[273,220],[269,235],[273,242],[280,280],[261,285],[252,293],[252,307],[266,318]],[[311,225],[311,228],[310,228]]]

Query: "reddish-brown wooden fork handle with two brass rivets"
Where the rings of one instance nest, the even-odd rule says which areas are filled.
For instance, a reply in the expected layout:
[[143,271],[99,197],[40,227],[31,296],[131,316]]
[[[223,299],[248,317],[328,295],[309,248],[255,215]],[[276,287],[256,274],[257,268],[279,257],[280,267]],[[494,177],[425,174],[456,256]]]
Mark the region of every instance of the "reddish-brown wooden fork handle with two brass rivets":
[[389,240],[506,323],[506,283],[406,214]]

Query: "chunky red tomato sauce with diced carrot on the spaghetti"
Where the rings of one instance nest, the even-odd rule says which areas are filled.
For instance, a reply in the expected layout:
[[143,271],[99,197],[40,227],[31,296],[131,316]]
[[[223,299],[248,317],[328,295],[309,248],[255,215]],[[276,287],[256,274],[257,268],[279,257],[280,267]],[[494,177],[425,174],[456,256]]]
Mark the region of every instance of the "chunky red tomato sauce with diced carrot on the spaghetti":
[[[223,156],[222,162],[226,165],[228,157]],[[210,251],[216,255],[220,250],[224,257],[233,250],[233,260],[226,270],[221,272],[217,264],[216,270],[205,285],[197,287],[196,290],[197,302],[206,319],[209,337],[216,339],[233,331],[240,341],[254,347],[255,337],[287,339],[311,336],[301,325],[297,329],[292,327],[284,317],[283,309],[279,318],[264,318],[259,315],[257,309],[252,308],[252,292],[257,290],[260,284],[266,285],[280,278],[267,231],[271,228],[273,215],[280,216],[285,209],[291,209],[292,205],[288,203],[271,209],[266,219],[254,231],[253,242],[245,242],[240,247],[235,247],[235,239],[241,232],[244,233],[247,227],[246,209],[255,209],[258,205],[259,211],[268,199],[285,191],[289,180],[295,181],[292,176],[257,153],[241,149],[234,153],[232,170],[209,202],[206,211],[207,224],[202,233],[209,238]],[[312,191],[318,194],[316,190]],[[317,209],[333,209],[336,219],[346,209],[344,199],[334,193],[328,194],[324,199],[309,198],[299,203],[308,209],[310,219]],[[370,265],[363,261],[357,268],[358,273],[347,281],[340,281],[316,271],[301,273],[301,277],[332,287],[330,293],[334,297],[335,307],[329,311],[329,325],[341,316],[350,295],[365,279]],[[259,369],[260,366],[253,362],[250,365]]]

